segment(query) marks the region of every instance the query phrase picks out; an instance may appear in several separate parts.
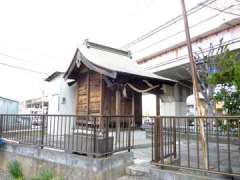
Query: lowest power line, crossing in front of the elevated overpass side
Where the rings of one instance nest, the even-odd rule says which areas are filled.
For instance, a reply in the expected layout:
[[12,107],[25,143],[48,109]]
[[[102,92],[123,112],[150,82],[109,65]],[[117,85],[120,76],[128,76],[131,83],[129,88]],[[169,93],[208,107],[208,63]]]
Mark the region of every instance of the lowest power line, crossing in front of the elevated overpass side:
[[[234,39],[231,39],[227,42],[225,42],[225,45],[231,45],[231,44],[235,44],[235,43],[239,43],[240,42],[240,37],[237,37],[237,38],[234,38]],[[205,48],[205,49],[202,49],[202,51],[195,51],[193,52],[194,54],[200,54],[200,53],[205,53],[205,52],[208,52],[210,49],[217,49],[219,48],[219,46],[222,45],[222,44],[217,44],[213,47],[208,47],[208,48]],[[152,66],[149,66],[146,68],[146,70],[151,70],[151,69],[154,69],[154,68],[158,68],[162,65],[166,65],[166,64],[170,64],[170,63],[173,63],[173,62],[176,62],[176,61],[181,61],[181,60],[184,60],[188,57],[187,54],[185,55],[182,55],[182,56],[179,56],[177,58],[173,58],[173,59],[169,59],[169,60],[166,60],[165,63],[160,63],[160,64],[156,64],[156,65],[152,65]]]

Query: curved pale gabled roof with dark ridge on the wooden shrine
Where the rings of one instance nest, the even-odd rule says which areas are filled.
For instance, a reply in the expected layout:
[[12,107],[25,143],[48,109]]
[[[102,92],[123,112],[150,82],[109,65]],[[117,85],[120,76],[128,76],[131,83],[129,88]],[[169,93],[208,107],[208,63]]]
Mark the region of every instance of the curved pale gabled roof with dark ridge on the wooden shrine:
[[144,70],[131,59],[130,52],[89,41],[85,41],[83,45],[77,48],[74,58],[64,74],[64,78],[71,79],[71,74],[80,68],[82,64],[93,71],[113,79],[116,79],[118,75],[125,74],[155,79],[166,83],[176,82]]

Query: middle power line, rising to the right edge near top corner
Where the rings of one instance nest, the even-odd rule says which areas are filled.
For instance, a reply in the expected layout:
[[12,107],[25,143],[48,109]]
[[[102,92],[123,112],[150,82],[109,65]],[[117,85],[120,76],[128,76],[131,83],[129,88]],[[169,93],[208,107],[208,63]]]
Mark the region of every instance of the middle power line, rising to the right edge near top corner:
[[[223,9],[222,11],[225,11],[225,10],[227,10],[227,9],[230,9],[230,8],[235,7],[235,6],[238,6],[238,5],[240,5],[240,4],[231,5],[231,6],[229,6],[229,7],[226,7],[226,8]],[[198,23],[196,23],[196,24],[193,24],[193,25],[190,26],[189,28],[191,29],[191,28],[197,27],[197,26],[200,25],[200,24],[203,24],[203,23],[205,23],[205,22],[207,22],[207,21],[210,21],[211,19],[216,18],[216,17],[219,16],[220,14],[221,14],[221,13],[218,13],[218,14],[215,14],[215,15],[209,17],[209,18],[206,18],[206,19],[204,19],[204,20],[202,20],[202,21],[200,21],[200,22],[198,22]],[[179,35],[179,34],[181,34],[181,33],[183,33],[183,32],[184,32],[184,30],[181,30],[181,31],[178,31],[177,33],[171,34],[171,35],[169,35],[169,36],[167,36],[167,37],[165,37],[165,38],[163,38],[163,39],[160,39],[160,40],[158,40],[158,41],[156,41],[156,42],[154,42],[154,43],[152,43],[152,44],[150,44],[150,45],[148,45],[148,46],[146,46],[146,47],[143,47],[143,48],[141,48],[141,49],[139,49],[139,50],[137,50],[137,51],[135,51],[135,52],[132,52],[132,54],[137,54],[137,53],[139,53],[139,52],[141,52],[141,51],[144,51],[145,49],[149,49],[150,47],[153,47],[153,46],[155,46],[155,45],[157,45],[157,44],[159,44],[159,43],[161,43],[161,42],[163,42],[163,41],[166,41],[167,39],[170,39],[170,38],[172,38],[172,37],[175,37],[175,36],[177,36],[177,35]]]

